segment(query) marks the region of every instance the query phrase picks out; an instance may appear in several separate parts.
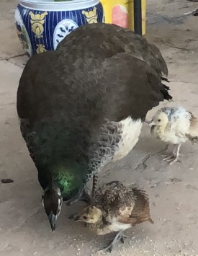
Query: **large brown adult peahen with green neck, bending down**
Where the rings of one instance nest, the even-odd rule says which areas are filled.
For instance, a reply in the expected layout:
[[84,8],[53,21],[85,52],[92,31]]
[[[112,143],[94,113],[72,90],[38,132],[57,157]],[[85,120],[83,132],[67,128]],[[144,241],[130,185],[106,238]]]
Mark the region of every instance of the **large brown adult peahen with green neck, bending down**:
[[171,100],[167,74],[155,45],[107,24],[78,27],[27,61],[17,112],[52,230],[63,200],[79,200],[91,177],[135,146],[148,110]]

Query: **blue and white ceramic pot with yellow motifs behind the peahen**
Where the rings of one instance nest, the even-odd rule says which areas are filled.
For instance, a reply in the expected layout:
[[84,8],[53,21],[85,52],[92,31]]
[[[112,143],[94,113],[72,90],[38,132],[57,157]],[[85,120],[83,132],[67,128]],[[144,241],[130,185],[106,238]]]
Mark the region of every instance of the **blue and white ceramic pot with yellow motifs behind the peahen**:
[[104,22],[104,12],[99,0],[19,0],[14,18],[19,40],[32,56],[55,50],[81,25]]

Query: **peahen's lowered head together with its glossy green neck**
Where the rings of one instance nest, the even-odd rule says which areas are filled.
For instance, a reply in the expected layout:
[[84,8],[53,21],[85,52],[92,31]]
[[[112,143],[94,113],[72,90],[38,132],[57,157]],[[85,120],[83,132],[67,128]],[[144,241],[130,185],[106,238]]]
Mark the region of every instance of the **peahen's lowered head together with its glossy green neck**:
[[[54,160],[54,159],[52,159]],[[51,161],[52,161],[51,160]],[[50,221],[52,231],[60,214],[63,200],[78,198],[86,182],[86,167],[73,159],[55,159],[48,162],[45,169],[40,168],[40,182],[44,188],[42,205]]]

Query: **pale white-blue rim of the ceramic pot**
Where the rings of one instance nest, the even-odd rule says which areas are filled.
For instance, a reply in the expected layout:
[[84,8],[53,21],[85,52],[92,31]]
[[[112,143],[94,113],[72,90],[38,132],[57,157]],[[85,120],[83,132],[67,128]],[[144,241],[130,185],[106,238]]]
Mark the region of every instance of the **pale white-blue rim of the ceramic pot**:
[[35,11],[66,12],[79,9],[86,9],[99,4],[99,0],[70,0],[70,1],[38,1],[38,0],[19,0],[19,5]]

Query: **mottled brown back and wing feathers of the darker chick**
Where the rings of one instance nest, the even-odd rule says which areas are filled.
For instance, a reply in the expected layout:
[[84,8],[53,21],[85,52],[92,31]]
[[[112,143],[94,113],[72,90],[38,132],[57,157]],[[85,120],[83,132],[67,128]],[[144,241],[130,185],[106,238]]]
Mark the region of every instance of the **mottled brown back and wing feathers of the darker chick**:
[[104,216],[114,215],[117,220],[135,224],[150,221],[148,195],[144,190],[126,187],[119,181],[112,181],[99,187],[94,195],[93,205],[103,210]]

